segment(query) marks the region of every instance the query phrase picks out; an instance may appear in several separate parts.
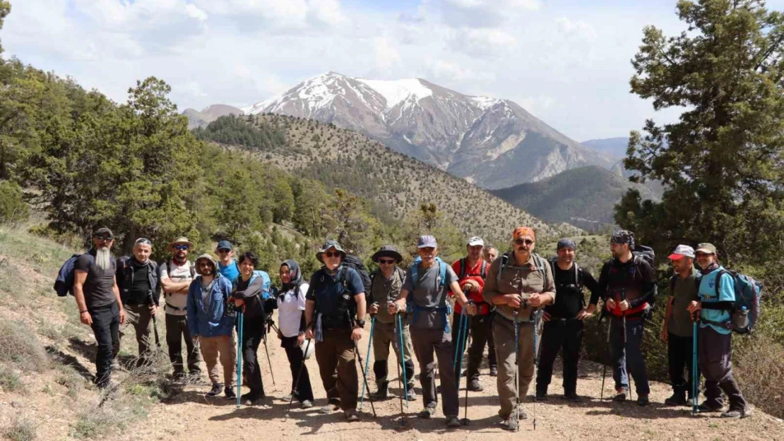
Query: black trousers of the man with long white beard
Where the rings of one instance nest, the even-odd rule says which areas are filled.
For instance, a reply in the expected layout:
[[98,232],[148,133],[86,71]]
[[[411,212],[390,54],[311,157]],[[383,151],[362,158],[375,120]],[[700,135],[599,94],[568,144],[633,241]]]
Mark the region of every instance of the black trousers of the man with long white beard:
[[98,352],[96,352],[96,385],[106,387],[111,378],[111,365],[115,348],[120,345],[120,307],[117,302],[111,305],[100,306],[89,309],[90,317],[93,318],[93,333],[98,342]]

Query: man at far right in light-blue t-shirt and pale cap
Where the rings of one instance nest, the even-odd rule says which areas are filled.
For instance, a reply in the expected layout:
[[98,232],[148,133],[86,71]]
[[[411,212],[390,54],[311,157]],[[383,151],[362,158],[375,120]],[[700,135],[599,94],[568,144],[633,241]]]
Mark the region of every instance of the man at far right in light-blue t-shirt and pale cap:
[[702,278],[699,301],[691,302],[688,311],[699,311],[699,369],[705,376],[705,401],[700,412],[718,412],[724,407],[721,392],[727,394],[730,408],[722,418],[746,418],[751,410],[746,405],[738,383],[732,377],[731,311],[735,304],[735,279],[719,265],[716,247],[699,244],[695,251]]

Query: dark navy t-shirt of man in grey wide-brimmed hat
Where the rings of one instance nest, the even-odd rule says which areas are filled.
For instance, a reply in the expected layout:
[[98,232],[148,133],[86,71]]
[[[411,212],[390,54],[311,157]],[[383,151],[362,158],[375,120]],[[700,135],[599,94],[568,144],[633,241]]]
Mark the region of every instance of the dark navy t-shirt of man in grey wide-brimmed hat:
[[[339,280],[340,273],[343,273],[348,292],[344,292],[343,284]],[[310,277],[309,285],[305,298],[316,302],[316,311],[321,313],[325,326],[350,327],[349,321],[343,320],[345,313],[339,313],[338,306],[340,302],[355,302],[354,297],[365,292],[365,285],[362,284],[359,273],[348,266],[340,266],[337,273],[331,276],[321,268]]]

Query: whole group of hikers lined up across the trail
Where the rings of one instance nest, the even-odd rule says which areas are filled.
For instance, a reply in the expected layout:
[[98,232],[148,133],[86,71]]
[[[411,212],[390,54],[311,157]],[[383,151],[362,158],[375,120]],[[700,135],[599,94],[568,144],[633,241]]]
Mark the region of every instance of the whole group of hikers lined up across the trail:
[[[167,248],[172,257],[158,265],[151,260],[151,241],[140,238],[132,255],[115,262],[114,234],[101,228],[93,234],[93,248],[75,262],[73,294],[82,323],[95,332],[96,384],[101,388],[111,387],[114,356],[130,327],[139,345],[138,363],[149,363],[150,324],[162,292],[173,378],[198,381],[203,357],[212,383],[207,396],[223,392],[227,399],[238,399],[238,405],[265,398],[256,353],[274,329],[292,374],[292,393],[284,397],[289,407],[294,399],[302,408],[314,406],[306,363],[314,353],[327,396],[319,410],[325,414],[342,410],[347,421],[358,421],[360,374],[363,403],[369,389],[369,366],[363,366],[358,342],[369,322],[365,358],[370,358],[372,348],[376,378],[376,391],[368,395],[371,406],[390,397],[391,345],[401,415],[403,400],[416,399],[416,354],[423,402],[417,416],[431,418],[440,394],[447,427],[461,425],[458,391],[463,355],[467,346],[466,394],[482,391],[480,367],[487,345],[501,425],[514,431],[521,419],[528,418],[521,402],[534,379],[533,400],[548,399],[554,360],[561,350],[564,398],[581,400],[576,386],[584,320],[597,313],[600,299],[601,315],[608,317],[615,381],[612,399],[631,399],[631,376],[637,404],[650,403],[641,343],[658,291],[652,250],[636,248],[633,233],[626,230],[614,233],[610,243],[612,258],[596,280],[575,262],[573,240],[559,240],[557,258],[548,260],[534,252],[534,230],[524,226],[512,232],[510,251],[500,256],[480,237],[471,237],[466,257],[451,266],[438,257],[433,236],[419,237],[416,259],[408,269],[400,267],[404,260],[400,252],[384,245],[372,255],[378,269],[369,275],[361,260],[347,255],[337,241],[327,240],[316,255],[323,266],[310,281],[297,262],[286,260],[278,269],[278,289],[271,286],[267,273],[257,269],[256,255],[235,256],[227,240],[217,244],[217,258],[208,253],[191,261],[194,244],[177,237]],[[736,279],[720,266],[712,244],[699,244],[696,250],[679,245],[669,259],[675,275],[661,335],[667,342],[673,395],[665,404],[691,402],[695,411],[718,412],[724,410],[724,392],[729,407],[721,416],[745,418],[751,411],[731,370]],[[590,291],[587,305],[584,288]],[[278,309],[277,326],[272,320],[274,309]],[[238,381],[249,389],[240,397],[234,392],[238,366],[244,377]],[[699,372],[705,378],[705,400],[697,407]],[[534,414],[534,427],[535,418]]]

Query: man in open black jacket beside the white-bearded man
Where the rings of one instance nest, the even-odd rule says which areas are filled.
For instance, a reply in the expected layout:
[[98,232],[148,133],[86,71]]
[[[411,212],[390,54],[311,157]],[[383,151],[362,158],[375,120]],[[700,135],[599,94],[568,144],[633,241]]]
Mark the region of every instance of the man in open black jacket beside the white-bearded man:
[[[140,238],[133,244],[133,255],[117,262],[117,284],[125,307],[125,324],[120,338],[134,328],[139,343],[137,366],[150,362],[150,322],[158,312],[158,264],[150,259],[152,243]],[[115,348],[114,352],[119,350]]]

